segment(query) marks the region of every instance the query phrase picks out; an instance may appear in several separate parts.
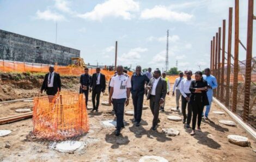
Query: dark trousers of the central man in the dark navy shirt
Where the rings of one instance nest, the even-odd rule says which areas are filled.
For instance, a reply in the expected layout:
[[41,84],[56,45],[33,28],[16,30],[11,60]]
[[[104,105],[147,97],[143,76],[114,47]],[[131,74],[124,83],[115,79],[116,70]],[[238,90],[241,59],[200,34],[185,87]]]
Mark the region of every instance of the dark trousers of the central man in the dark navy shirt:
[[143,97],[142,95],[132,95],[132,103],[134,107],[134,119],[136,122],[141,122],[142,108],[143,108]]

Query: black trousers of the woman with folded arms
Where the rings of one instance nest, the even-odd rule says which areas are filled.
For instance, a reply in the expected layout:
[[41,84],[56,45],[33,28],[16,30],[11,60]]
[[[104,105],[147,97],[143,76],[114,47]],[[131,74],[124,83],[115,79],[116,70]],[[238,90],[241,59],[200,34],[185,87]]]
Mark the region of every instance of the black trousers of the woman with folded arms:
[[202,121],[202,113],[204,110],[203,101],[193,101],[192,102],[192,111],[193,111],[193,119],[192,119],[192,129],[194,130],[197,126],[200,127]]

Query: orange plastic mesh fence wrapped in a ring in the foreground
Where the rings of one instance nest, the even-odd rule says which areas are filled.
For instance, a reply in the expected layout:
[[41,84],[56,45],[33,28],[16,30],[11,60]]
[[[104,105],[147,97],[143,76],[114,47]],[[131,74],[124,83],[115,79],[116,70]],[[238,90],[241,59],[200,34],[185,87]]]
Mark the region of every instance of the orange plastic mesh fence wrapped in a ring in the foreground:
[[61,92],[34,98],[33,135],[39,139],[64,140],[89,130],[83,94]]

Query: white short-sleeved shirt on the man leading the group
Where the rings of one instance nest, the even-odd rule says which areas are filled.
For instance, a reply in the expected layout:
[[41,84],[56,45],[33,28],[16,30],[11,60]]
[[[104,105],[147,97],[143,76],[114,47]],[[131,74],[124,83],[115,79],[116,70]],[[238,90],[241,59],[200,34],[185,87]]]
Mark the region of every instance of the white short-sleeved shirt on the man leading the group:
[[131,88],[131,78],[128,75],[116,75],[111,78],[109,86],[114,88],[112,98],[127,98],[127,88]]

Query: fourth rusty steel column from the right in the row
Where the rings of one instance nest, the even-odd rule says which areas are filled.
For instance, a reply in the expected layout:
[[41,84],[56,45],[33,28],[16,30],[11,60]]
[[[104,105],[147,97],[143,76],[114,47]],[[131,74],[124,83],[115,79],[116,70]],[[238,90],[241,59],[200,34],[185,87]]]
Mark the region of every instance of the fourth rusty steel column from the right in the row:
[[222,102],[224,101],[225,30],[226,30],[226,21],[223,20],[222,22],[223,34],[222,34],[222,61],[221,61],[221,96],[220,96]]

